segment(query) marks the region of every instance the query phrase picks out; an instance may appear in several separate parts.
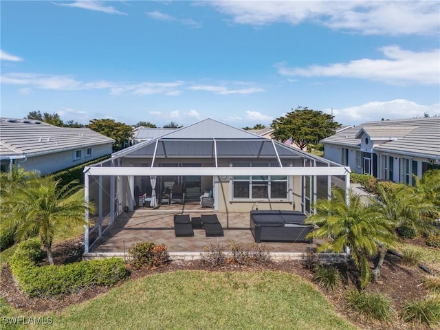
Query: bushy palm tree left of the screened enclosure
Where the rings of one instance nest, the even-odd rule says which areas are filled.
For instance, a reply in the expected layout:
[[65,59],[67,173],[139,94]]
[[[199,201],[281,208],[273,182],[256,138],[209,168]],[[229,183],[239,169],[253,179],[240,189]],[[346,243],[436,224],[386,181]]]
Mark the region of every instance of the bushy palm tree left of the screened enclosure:
[[23,181],[5,191],[1,201],[1,213],[5,214],[1,230],[14,228],[14,241],[23,241],[39,235],[47,259],[54,264],[52,241],[56,229],[67,228],[74,223],[85,222],[85,210],[93,212],[93,207],[78,195],[80,188],[76,181],[59,186],[54,177],[37,177]]

